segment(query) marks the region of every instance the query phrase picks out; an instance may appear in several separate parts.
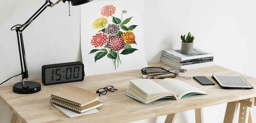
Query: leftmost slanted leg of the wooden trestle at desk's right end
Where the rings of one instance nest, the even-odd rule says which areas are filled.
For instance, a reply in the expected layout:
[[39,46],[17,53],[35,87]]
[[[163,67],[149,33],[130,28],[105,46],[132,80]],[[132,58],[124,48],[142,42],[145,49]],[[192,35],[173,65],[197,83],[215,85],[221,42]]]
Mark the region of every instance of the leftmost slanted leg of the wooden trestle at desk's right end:
[[227,103],[225,118],[223,123],[234,123],[237,115],[239,101]]

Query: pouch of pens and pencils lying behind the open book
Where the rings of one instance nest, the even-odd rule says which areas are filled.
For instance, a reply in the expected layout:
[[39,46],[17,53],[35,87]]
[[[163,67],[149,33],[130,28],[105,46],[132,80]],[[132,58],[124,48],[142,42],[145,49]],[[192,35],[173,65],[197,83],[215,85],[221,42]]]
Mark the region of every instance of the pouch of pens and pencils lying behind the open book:
[[[173,72],[172,72],[173,71]],[[164,78],[184,78],[184,79],[191,79],[189,76],[180,76],[178,75],[179,71],[172,71],[166,70],[163,67],[145,67],[142,68],[141,72],[143,74],[143,78],[154,78],[154,79],[164,79]]]

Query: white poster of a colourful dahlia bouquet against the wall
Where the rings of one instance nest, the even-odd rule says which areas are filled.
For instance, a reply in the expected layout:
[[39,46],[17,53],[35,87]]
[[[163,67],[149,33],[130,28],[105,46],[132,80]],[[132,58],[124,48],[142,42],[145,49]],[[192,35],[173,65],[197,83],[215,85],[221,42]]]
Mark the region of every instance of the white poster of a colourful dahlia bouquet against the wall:
[[81,5],[81,49],[87,76],[147,67],[143,0]]

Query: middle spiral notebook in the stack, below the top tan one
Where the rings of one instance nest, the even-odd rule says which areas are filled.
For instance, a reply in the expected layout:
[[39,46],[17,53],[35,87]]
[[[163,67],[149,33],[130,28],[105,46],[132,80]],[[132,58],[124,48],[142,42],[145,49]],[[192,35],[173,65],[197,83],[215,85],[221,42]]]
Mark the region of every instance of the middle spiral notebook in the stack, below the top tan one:
[[63,108],[66,108],[67,110],[77,112],[77,113],[83,113],[83,112],[92,110],[94,108],[98,108],[103,105],[102,102],[95,101],[93,103],[87,104],[86,106],[79,107],[79,106],[75,106],[75,105],[72,105],[72,104],[69,104],[69,103],[66,103],[66,102],[63,102],[60,100],[56,100],[56,99],[50,99],[50,103],[60,106],[60,107],[63,107]]

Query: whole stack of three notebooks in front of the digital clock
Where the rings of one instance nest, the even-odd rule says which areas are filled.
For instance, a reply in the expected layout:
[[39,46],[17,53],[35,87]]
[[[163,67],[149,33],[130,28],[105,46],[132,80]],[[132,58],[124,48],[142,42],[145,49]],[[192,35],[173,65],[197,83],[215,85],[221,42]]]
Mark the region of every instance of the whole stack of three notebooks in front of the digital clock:
[[69,118],[97,113],[102,106],[96,93],[68,85],[51,95],[50,103]]

